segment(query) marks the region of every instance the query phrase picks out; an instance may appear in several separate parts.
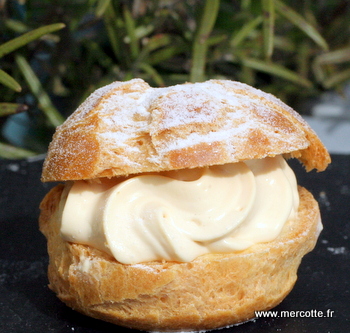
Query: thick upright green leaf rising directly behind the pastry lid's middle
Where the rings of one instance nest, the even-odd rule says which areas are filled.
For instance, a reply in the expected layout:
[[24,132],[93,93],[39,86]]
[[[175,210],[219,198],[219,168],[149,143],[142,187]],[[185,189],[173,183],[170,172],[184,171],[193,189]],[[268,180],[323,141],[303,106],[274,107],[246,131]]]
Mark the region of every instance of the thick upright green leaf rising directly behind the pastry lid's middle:
[[214,27],[219,11],[220,0],[206,0],[204,11],[199,22],[193,49],[190,81],[197,82],[204,80],[205,63],[207,56],[207,39]]

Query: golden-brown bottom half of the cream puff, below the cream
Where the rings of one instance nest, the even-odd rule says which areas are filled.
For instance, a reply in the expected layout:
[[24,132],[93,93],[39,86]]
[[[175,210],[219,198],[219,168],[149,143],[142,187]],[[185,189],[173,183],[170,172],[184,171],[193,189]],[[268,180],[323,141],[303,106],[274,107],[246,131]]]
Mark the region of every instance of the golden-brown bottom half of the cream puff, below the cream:
[[40,229],[48,239],[50,288],[89,316],[141,330],[208,330],[246,321],[290,292],[301,258],[320,231],[317,202],[299,188],[298,219],[272,242],[189,263],[118,263],[59,236],[63,185],[41,203]]

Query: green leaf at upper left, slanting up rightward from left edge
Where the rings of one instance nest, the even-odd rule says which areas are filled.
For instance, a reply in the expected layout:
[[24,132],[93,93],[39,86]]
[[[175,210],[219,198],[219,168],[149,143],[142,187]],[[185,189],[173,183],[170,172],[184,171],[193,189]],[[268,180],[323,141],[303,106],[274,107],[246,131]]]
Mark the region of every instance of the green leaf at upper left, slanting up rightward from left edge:
[[40,27],[38,29],[29,31],[22,36],[14,38],[0,46],[0,58],[4,55],[32,42],[35,39],[40,38],[43,35],[49,34],[51,32],[63,29],[65,24],[63,23],[55,23],[46,25],[44,27]]

